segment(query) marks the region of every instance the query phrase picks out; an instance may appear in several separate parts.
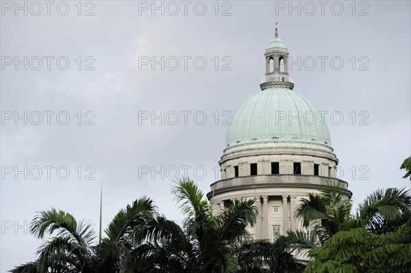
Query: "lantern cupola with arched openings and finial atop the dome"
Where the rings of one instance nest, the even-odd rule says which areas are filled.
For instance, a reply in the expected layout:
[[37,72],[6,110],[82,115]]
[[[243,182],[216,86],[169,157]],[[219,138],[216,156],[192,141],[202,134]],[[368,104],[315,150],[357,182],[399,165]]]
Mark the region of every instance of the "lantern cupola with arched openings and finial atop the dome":
[[292,78],[288,75],[288,54],[282,39],[278,38],[278,23],[275,23],[275,36],[264,53],[266,73],[261,80],[261,90],[275,86],[294,88]]

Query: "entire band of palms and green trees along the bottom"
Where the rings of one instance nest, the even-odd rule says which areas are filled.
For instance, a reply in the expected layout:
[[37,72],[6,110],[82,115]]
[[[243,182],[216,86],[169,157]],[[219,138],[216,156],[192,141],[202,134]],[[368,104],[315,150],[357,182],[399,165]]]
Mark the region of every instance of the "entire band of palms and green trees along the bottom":
[[[411,157],[401,165],[410,176]],[[308,252],[304,272],[410,272],[411,194],[389,188],[370,194],[351,215],[352,202],[338,185],[308,194],[297,206],[303,230],[271,243],[252,239],[255,200],[234,200],[219,213],[188,178],[173,187],[186,216],[182,226],[162,216],[153,200],[138,198],[114,216],[95,244],[86,222],[65,211],[40,211],[30,232],[45,242],[34,262],[13,273],[246,273],[301,272],[290,254]]]

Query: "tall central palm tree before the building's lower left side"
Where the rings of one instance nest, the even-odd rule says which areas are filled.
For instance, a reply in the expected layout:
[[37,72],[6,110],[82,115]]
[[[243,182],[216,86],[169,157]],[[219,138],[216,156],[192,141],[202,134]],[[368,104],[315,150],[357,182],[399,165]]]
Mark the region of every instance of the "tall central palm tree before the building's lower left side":
[[258,216],[254,200],[235,200],[214,216],[191,179],[179,179],[173,194],[186,215],[183,226],[158,216],[136,228],[135,242],[141,244],[129,252],[123,272],[138,272],[138,268],[170,273],[298,270],[290,253],[268,241],[251,239],[246,228]]

